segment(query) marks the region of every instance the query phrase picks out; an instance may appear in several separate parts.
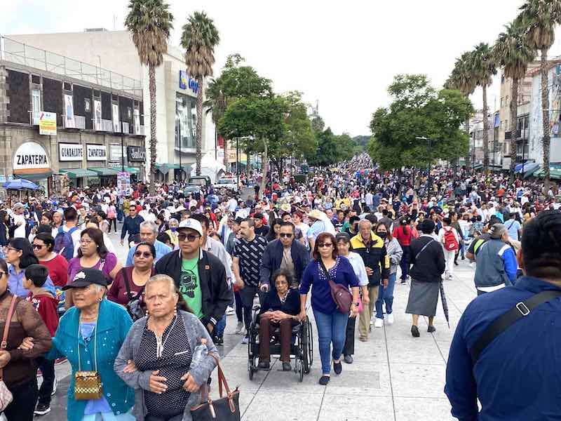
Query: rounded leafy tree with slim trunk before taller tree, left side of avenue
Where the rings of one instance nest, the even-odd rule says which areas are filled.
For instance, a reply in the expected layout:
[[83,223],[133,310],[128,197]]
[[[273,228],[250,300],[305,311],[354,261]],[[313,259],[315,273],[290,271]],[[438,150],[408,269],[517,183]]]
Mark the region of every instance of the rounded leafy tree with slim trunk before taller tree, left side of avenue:
[[218,122],[220,133],[224,133],[227,138],[241,138],[244,149],[262,152],[262,192],[267,182],[269,145],[273,147],[273,153],[278,153],[276,149],[280,145],[279,141],[287,131],[287,114],[288,105],[284,98],[252,96],[234,100]]

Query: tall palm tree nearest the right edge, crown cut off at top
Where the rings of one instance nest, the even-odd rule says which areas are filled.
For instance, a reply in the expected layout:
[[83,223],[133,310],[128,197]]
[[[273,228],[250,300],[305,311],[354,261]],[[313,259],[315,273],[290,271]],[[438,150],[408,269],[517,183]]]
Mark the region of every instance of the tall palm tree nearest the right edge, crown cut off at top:
[[[541,55],[541,123],[543,128],[543,173],[549,189],[550,119],[548,88],[548,50],[555,41],[555,27],[561,22],[561,0],[527,0],[520,7],[522,25],[529,44]],[[558,110],[555,110],[558,113]]]

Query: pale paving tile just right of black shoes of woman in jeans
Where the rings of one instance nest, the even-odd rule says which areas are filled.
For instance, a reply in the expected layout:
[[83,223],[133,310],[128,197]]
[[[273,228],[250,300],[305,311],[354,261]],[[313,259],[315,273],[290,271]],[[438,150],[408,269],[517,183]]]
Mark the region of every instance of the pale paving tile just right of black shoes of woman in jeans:
[[[318,379],[319,377],[316,377],[316,381]],[[373,365],[357,361],[351,365],[344,365],[341,375],[331,373],[325,396],[332,395],[391,396],[388,364]]]

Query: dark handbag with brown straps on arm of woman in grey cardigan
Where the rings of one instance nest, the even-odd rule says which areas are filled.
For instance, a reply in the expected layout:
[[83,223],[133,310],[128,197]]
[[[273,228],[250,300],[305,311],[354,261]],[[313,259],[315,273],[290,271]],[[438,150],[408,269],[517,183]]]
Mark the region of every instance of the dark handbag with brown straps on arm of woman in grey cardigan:
[[[218,361],[218,357],[209,354],[216,360],[218,367],[218,390],[220,398],[213,401],[208,394],[208,385],[201,386],[201,403],[191,406],[193,421],[240,421],[240,391],[236,387],[232,392]],[[226,396],[222,392],[222,385],[226,389]]]

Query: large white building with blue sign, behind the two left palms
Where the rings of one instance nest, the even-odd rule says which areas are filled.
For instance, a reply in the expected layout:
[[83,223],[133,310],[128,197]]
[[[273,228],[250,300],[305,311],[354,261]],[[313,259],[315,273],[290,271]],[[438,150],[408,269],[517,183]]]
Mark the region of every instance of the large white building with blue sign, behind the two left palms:
[[[144,121],[147,135],[147,162],[149,162],[150,99],[148,68],[138,58],[136,47],[128,31],[86,29],[84,32],[65,34],[29,34],[8,36],[27,45],[44,48],[60,55],[69,55],[93,67],[107,67],[123,76],[140,80],[143,88]],[[196,95],[198,84],[186,72],[184,52],[168,46],[163,64],[156,69],[156,163],[165,163],[163,180],[181,175],[180,166],[188,173],[196,154]],[[203,113],[203,155],[217,150],[212,119]],[[169,172],[168,172],[169,170]],[[185,177],[186,174],[183,174]]]

